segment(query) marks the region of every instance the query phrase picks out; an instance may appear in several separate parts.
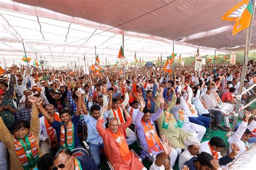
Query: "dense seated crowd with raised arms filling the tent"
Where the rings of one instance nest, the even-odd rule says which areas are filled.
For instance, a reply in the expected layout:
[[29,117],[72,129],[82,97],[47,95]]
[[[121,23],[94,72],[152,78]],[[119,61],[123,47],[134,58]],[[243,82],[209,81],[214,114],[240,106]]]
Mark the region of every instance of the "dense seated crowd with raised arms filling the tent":
[[[243,91],[256,83],[249,61]],[[228,169],[256,141],[254,109],[239,109],[241,65],[82,69],[5,68],[0,79],[0,169]],[[255,98],[241,96],[240,107]],[[131,150],[138,145],[139,152]],[[7,157],[6,157],[7,153]],[[104,166],[103,166],[104,167]],[[148,167],[149,168],[149,167]],[[177,168],[176,168],[177,169]]]

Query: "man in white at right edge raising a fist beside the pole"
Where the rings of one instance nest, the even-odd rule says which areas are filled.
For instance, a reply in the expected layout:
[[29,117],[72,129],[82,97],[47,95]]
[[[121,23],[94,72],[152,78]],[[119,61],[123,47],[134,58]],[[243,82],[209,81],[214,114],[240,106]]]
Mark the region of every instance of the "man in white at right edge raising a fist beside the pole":
[[244,121],[241,122],[235,134],[228,138],[228,143],[230,144],[229,150],[231,151],[231,144],[236,143],[240,147],[240,152],[236,158],[239,157],[240,154],[249,150],[248,140],[251,138],[251,131],[256,128],[256,122],[252,121],[250,125],[248,125],[248,120],[252,116],[251,112],[245,111]]

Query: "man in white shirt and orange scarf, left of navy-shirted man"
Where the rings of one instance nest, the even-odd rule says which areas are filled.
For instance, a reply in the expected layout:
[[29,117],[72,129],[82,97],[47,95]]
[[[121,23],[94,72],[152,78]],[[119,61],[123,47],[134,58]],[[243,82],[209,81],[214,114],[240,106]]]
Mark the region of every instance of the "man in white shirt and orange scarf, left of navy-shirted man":
[[[55,112],[55,108],[53,104],[46,105],[45,110],[53,119],[60,122],[59,114]],[[49,153],[50,143],[52,148],[57,146],[56,130],[52,128],[52,126],[49,124],[49,122],[44,116],[39,118],[39,122],[40,122],[39,138],[41,140],[40,150],[43,154]],[[49,141],[49,137],[50,137],[50,141]]]

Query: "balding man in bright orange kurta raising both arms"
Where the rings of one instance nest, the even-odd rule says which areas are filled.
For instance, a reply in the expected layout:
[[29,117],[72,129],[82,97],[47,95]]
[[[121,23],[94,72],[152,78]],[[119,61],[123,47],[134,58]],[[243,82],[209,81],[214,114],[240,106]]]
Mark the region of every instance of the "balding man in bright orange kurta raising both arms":
[[125,129],[131,125],[132,118],[125,110],[124,105],[119,105],[119,108],[124,110],[126,122],[119,125],[118,119],[112,117],[109,120],[109,128],[105,129],[103,127],[103,114],[100,114],[97,120],[96,129],[103,138],[106,157],[111,162],[114,169],[145,169],[142,163],[129,151],[125,140]]

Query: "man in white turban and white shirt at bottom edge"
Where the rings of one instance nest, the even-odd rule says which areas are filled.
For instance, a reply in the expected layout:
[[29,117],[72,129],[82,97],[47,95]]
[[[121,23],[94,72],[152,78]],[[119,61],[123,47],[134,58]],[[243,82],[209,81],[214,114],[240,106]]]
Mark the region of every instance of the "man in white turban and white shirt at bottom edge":
[[182,152],[179,156],[179,169],[181,170],[184,166],[184,163],[188,160],[190,160],[193,157],[197,157],[200,153],[199,151],[199,145],[200,142],[196,137],[189,136],[187,137],[187,140],[184,143],[187,147],[185,148],[185,151]]

